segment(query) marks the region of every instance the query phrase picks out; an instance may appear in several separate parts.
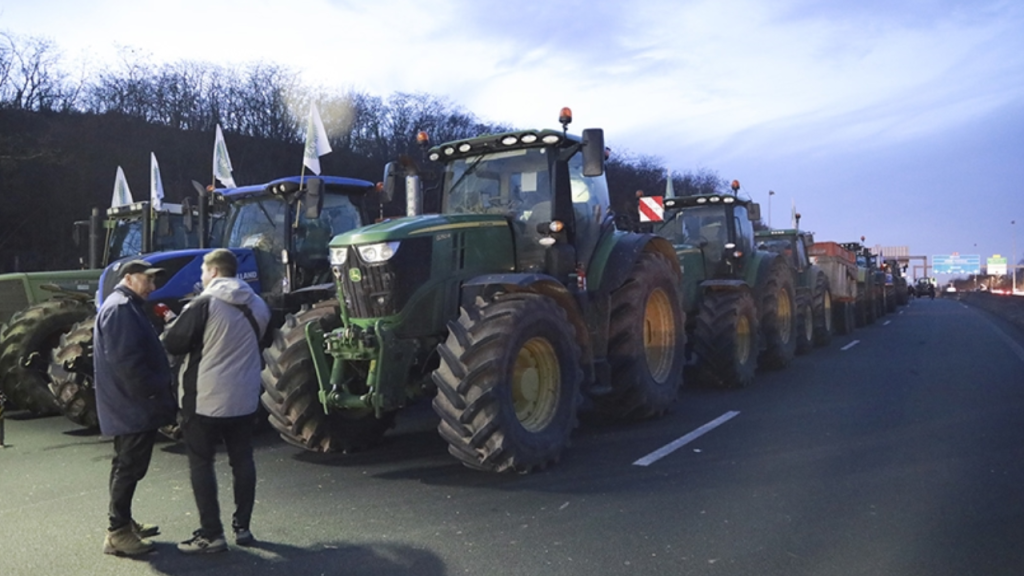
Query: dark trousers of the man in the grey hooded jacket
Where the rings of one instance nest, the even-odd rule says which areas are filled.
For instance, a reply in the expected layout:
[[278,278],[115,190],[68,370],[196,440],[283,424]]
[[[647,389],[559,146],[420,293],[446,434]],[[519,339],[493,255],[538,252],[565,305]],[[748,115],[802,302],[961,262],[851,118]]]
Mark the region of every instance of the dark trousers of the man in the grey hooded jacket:
[[227,461],[231,465],[234,489],[234,515],[232,528],[249,528],[256,501],[256,463],[253,461],[253,415],[233,418],[188,416],[181,424],[185,449],[188,453],[188,470],[193,494],[199,508],[200,531],[207,538],[224,533],[220,522],[220,504],[217,501],[217,475],[214,456],[217,444],[223,440],[227,447]]

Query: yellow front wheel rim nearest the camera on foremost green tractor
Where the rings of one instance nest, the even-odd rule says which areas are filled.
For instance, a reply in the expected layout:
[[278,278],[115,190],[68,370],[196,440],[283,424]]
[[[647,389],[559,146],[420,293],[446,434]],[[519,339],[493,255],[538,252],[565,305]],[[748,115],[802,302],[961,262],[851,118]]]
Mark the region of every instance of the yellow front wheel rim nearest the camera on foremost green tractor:
[[561,370],[555,348],[546,338],[530,338],[519,348],[512,373],[512,403],[524,428],[540,431],[558,409]]

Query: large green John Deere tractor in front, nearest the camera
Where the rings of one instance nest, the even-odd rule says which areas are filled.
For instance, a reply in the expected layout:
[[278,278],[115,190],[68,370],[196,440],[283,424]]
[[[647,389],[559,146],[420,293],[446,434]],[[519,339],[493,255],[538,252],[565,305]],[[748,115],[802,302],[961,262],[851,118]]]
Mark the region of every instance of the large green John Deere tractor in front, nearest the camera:
[[[568,134],[567,109],[559,120],[432,148],[440,213],[331,241],[337,299],[290,316],[264,352],[262,401],[286,441],[367,448],[432,396],[453,456],[524,474],[559,459],[585,403],[634,419],[676,401],[675,253],[615,229],[603,132]],[[389,165],[386,190],[397,176]]]

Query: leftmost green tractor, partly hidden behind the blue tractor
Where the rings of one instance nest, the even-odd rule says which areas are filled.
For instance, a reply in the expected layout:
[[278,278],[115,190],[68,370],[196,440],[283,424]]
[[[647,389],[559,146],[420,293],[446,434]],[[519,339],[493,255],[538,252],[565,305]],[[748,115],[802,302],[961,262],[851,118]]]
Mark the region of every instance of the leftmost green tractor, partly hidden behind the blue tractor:
[[47,375],[51,351],[60,336],[95,313],[94,297],[102,268],[119,258],[155,250],[198,247],[205,238],[196,225],[199,208],[135,202],[92,210],[87,221],[75,222],[75,238],[83,242],[88,230],[88,268],[76,271],[34,272],[0,276],[0,305],[6,318],[0,329],[0,390],[15,408],[36,414],[56,414],[60,404],[50,390]]

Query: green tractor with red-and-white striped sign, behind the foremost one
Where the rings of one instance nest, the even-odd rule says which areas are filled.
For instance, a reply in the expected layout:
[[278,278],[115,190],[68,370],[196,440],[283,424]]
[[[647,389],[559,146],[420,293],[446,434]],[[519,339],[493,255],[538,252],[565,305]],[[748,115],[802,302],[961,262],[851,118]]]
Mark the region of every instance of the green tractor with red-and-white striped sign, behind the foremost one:
[[699,381],[722,387],[749,385],[759,364],[785,367],[797,347],[793,266],[757,248],[761,208],[738,191],[733,180],[732,195],[665,198],[663,220],[653,227],[686,273],[689,365]]

